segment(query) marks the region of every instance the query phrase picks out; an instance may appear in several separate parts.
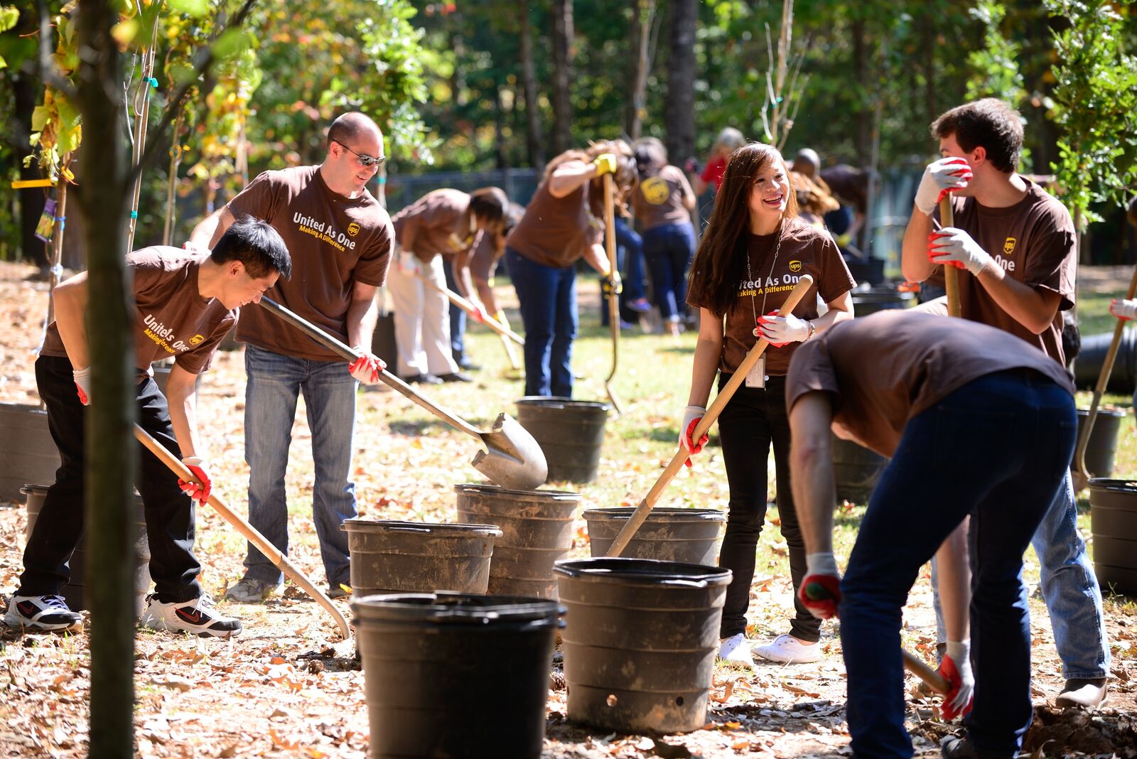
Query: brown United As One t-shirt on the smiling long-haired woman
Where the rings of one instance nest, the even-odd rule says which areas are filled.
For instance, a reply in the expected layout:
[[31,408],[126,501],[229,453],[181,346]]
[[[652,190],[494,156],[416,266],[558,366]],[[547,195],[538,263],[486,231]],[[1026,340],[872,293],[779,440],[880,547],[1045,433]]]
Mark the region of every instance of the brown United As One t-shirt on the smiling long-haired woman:
[[[750,235],[750,276],[746,276],[744,269],[742,281],[738,283],[738,298],[727,311],[723,327],[722,357],[719,362],[723,374],[732,374],[758,341],[754,336],[755,315],[763,316],[780,309],[803,274],[813,276],[813,284],[794,309],[794,316],[802,319],[818,317],[819,294],[821,300],[829,303],[856,286],[829,233],[800,219],[789,219],[782,232],[777,260],[775,242],[777,233]],[[708,300],[706,294],[694,290],[687,294],[687,302],[697,308],[706,308]],[[794,351],[802,343],[790,343],[785,348],[767,348],[763,353],[766,374],[785,375],[789,370]]]

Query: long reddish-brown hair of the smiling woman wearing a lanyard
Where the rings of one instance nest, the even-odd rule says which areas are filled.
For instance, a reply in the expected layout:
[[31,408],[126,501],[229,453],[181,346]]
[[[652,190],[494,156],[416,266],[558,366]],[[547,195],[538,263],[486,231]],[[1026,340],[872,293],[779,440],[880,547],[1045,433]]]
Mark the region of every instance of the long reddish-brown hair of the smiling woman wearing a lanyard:
[[[781,153],[771,145],[752,142],[730,155],[722,187],[715,194],[711,220],[699,241],[691,264],[689,290],[708,303],[707,308],[722,317],[733,305],[738,283],[746,274],[746,257],[750,241],[750,191],[755,177],[770,166],[789,173]],[[797,216],[797,198],[792,189],[786,198],[782,224]]]

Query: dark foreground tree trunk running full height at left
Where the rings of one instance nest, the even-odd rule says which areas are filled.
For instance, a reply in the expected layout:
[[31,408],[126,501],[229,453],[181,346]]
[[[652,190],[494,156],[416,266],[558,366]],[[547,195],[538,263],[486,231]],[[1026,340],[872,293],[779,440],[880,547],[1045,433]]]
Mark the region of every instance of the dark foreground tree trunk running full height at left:
[[110,35],[118,11],[108,0],[81,0],[77,100],[86,150],[78,166],[86,228],[88,335],[92,398],[86,416],[86,540],[91,579],[90,757],[134,753],[134,537],[138,448],[133,424],[133,314],[123,259],[128,160],[123,140],[123,66]]

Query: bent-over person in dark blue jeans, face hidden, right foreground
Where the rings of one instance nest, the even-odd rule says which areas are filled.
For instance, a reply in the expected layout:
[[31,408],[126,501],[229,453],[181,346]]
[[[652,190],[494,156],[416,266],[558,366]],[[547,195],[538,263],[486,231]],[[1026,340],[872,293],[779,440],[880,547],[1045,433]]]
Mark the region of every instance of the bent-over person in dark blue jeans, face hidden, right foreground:
[[[966,551],[961,541],[937,554],[951,637],[940,667],[952,685],[945,718],[968,714],[974,687],[966,737],[945,739],[944,756],[1015,756],[1034,716],[1022,554],[1070,466],[1077,431],[1064,369],[993,327],[882,311],[802,344],[786,401],[808,565],[799,598],[821,618],[840,614],[853,753],[912,756],[901,611],[920,567],[970,514],[970,639]],[[893,457],[843,579],[832,549],[830,426]]]

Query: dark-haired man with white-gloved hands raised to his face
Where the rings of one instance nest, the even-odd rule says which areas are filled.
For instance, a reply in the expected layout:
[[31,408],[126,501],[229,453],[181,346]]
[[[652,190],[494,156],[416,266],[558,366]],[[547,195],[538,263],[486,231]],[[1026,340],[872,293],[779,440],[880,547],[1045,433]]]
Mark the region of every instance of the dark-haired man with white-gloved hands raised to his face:
[[[939,265],[960,269],[964,319],[1009,332],[1061,365],[1062,314],[1073,307],[1077,237],[1056,199],[1015,173],[1019,115],[994,98],[958,106],[931,132],[941,159],[924,172],[904,233],[905,278],[923,282]],[[952,194],[954,224],[935,231],[938,201]],[[1041,590],[1062,658],[1059,706],[1097,706],[1110,666],[1102,593],[1078,534],[1067,477],[1035,535]]]

